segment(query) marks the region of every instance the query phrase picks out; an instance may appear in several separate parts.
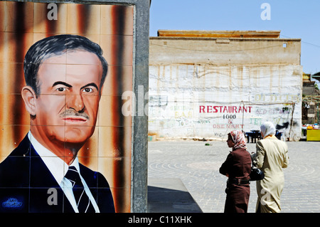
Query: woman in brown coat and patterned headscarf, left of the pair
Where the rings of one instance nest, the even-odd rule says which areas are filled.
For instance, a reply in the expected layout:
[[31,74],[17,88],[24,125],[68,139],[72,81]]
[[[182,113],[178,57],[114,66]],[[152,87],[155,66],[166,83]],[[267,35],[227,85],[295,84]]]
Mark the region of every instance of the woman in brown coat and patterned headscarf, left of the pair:
[[245,135],[238,130],[228,134],[228,147],[232,151],[221,165],[220,174],[228,176],[225,193],[225,213],[247,213],[250,197],[251,157],[247,152]]

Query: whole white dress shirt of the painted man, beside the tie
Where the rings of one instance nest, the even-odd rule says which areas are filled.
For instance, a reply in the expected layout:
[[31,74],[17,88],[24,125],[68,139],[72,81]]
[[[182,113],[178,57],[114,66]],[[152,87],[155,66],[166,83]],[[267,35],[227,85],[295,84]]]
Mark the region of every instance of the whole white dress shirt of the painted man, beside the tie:
[[[46,149],[46,147],[43,147],[42,144],[40,144],[36,138],[33,137],[31,132],[28,132],[28,138],[31,141],[31,144],[33,145],[34,149],[36,149],[36,152],[39,154],[43,162],[48,167],[49,171],[55,178],[55,180],[58,182],[61,189],[63,189],[63,193],[67,197],[67,199],[70,201],[71,206],[73,206],[73,209],[75,210],[75,213],[79,213],[78,206],[75,202],[75,196],[73,195],[73,187],[71,182],[65,178],[65,174],[67,174],[68,171],[68,164],[66,164],[63,159],[58,157],[57,155],[53,154],[53,152],[50,152],[50,150]],[[79,168],[79,161],[78,157],[75,157],[75,160],[73,161],[70,166],[74,166],[75,169],[78,170],[80,174],[80,179],[82,181],[82,184],[85,188],[85,192],[87,193],[87,196],[89,196],[89,199],[95,208],[96,213],[100,213],[99,208],[97,206],[97,203],[95,199],[93,198],[90,189],[88,188],[87,184],[85,183],[85,179],[82,178]]]

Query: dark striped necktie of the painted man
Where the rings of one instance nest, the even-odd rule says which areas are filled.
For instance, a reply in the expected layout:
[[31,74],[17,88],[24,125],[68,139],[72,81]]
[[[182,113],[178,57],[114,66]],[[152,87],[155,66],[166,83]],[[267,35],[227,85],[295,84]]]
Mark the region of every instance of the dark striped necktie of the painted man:
[[67,174],[65,174],[65,178],[70,180],[71,184],[73,184],[73,194],[75,196],[75,202],[78,206],[79,213],[95,213],[95,208],[85,193],[85,189],[77,169],[75,169],[75,167],[69,167]]

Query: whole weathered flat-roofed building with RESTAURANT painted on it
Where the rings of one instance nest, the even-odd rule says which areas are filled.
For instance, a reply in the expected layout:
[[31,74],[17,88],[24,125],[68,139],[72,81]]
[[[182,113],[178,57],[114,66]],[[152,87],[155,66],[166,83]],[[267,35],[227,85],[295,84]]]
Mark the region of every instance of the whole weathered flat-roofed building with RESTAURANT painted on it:
[[150,37],[149,133],[227,139],[230,130],[302,127],[301,39],[280,31],[167,31]]

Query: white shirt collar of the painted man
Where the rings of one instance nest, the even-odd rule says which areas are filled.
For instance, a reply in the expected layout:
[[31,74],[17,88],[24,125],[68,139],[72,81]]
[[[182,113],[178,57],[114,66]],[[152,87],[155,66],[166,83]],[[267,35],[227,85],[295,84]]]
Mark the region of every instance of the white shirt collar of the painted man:
[[[63,159],[60,159],[56,154],[53,152],[50,152],[49,149],[44,147],[41,143],[39,143],[35,137],[33,137],[32,133],[28,132],[28,138],[33,145],[33,148],[36,150],[36,152],[39,154],[43,162],[46,164],[46,167],[48,167],[51,174],[53,174],[53,177],[58,182],[58,184],[61,184],[63,181],[63,177],[68,171],[68,164],[66,164]],[[70,166],[75,167],[80,172],[79,168],[79,161],[78,157],[75,157],[75,160],[73,161]]]

